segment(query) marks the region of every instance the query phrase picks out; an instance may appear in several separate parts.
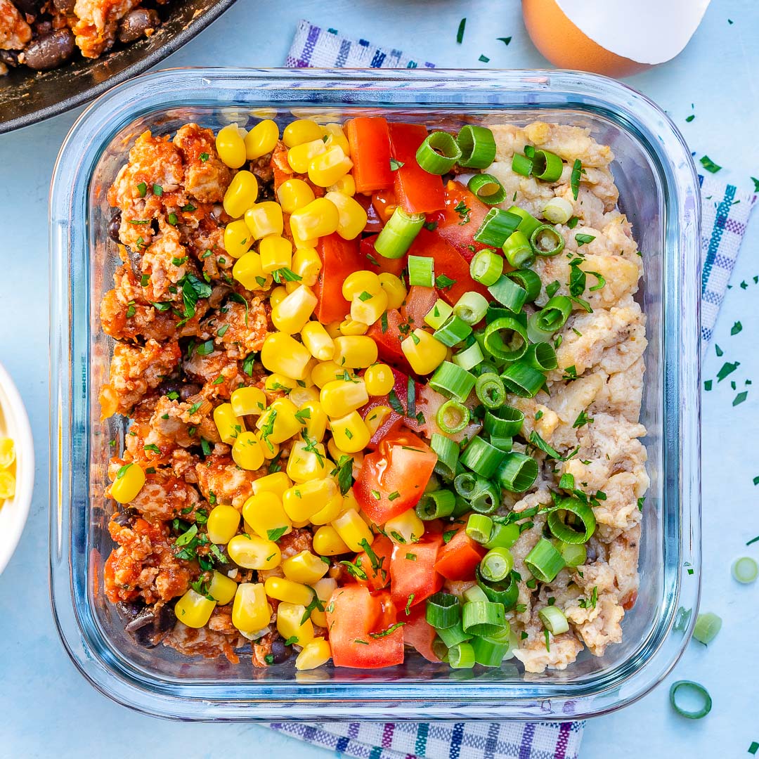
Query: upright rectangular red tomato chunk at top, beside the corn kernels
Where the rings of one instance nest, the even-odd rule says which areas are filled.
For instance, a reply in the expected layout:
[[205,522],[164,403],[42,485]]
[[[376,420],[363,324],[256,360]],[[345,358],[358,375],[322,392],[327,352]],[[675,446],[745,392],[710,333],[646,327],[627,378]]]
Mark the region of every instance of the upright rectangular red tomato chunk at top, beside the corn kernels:
[[382,116],[357,116],[345,124],[351,146],[356,192],[364,193],[392,187],[390,137]]

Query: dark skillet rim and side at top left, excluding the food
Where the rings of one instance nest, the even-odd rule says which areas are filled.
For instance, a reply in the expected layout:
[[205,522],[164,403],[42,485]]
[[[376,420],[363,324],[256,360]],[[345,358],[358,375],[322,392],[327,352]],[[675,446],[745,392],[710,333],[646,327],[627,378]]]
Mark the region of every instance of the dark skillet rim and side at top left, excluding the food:
[[141,74],[205,29],[233,2],[171,0],[159,11],[163,23],[149,38],[129,45],[116,43],[117,48],[95,60],[77,54],[52,71],[11,68],[0,77],[0,134],[80,106]]

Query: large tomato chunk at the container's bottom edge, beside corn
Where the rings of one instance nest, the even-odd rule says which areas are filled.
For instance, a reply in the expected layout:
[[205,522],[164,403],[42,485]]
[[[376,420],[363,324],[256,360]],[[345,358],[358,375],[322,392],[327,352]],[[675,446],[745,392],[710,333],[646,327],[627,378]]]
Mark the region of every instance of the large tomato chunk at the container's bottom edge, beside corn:
[[387,591],[370,594],[365,585],[345,585],[335,590],[326,608],[335,666],[376,669],[403,662],[402,627],[372,637],[395,624],[395,606]]

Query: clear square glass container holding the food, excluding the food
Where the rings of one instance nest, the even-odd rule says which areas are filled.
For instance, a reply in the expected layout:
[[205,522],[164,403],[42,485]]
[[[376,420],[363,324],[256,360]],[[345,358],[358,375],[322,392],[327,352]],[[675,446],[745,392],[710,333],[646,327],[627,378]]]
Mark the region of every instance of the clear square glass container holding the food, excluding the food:
[[[218,129],[355,114],[458,128],[463,121],[542,119],[591,129],[616,156],[619,205],[644,260],[636,296],[647,314],[642,422],[651,486],[643,509],[638,603],[624,639],[602,658],[587,651],[565,671],[524,676],[513,663],[455,671],[409,654],[387,670],[295,674],[137,646],[102,591],[112,505],[102,498],[109,440],[98,393],[112,340],[99,325],[117,262],[106,191],[142,131],[187,121]],[[640,698],[688,641],[698,605],[699,196],[691,155],[669,118],[625,85],[568,71],[329,71],[184,69],[121,84],[79,118],[52,181],[50,587],[61,638],[93,685],[115,701],[183,720],[569,720]]]

